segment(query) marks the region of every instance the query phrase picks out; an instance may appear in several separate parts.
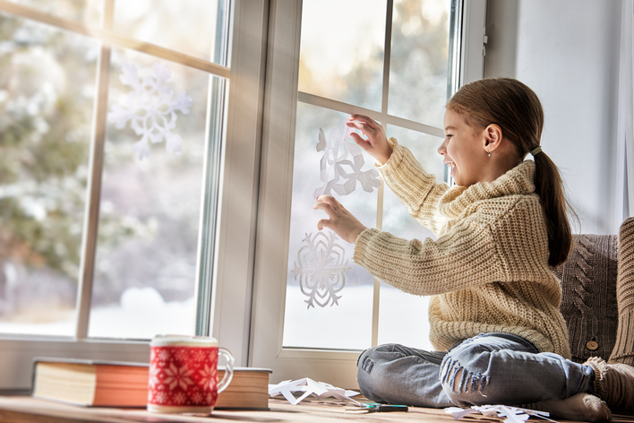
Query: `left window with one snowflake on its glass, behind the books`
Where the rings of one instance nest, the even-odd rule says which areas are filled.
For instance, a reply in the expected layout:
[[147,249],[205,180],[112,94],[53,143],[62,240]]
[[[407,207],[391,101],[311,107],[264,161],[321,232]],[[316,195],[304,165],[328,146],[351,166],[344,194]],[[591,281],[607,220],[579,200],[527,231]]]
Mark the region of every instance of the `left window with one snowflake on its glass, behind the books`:
[[0,2],[0,342],[23,369],[0,388],[34,355],[209,332],[229,10]]

